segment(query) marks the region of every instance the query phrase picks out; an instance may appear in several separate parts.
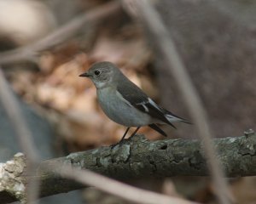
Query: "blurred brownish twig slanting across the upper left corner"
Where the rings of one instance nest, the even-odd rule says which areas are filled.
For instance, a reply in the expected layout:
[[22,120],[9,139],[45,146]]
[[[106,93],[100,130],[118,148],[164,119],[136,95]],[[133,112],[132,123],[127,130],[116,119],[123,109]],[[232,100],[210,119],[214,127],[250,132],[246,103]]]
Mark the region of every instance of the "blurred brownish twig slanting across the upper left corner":
[[66,41],[69,37],[72,37],[77,31],[79,31],[79,29],[81,29],[86,23],[102,20],[110,14],[114,14],[119,10],[119,8],[120,3],[118,1],[113,1],[97,8],[93,8],[90,11],[79,15],[64,26],[59,27],[48,36],[38,40],[38,42],[33,42],[30,45],[1,53],[0,65],[15,63],[22,60],[35,61],[35,57],[40,51],[52,48],[55,45]]

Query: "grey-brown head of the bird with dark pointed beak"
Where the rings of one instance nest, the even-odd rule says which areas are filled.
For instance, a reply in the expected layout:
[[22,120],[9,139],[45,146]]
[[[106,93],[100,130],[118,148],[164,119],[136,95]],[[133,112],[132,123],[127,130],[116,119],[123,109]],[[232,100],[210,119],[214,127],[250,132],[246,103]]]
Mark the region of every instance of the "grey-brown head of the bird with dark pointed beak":
[[105,88],[112,84],[118,73],[119,69],[113,63],[103,61],[92,65],[88,71],[79,75],[79,77],[89,77],[96,88]]

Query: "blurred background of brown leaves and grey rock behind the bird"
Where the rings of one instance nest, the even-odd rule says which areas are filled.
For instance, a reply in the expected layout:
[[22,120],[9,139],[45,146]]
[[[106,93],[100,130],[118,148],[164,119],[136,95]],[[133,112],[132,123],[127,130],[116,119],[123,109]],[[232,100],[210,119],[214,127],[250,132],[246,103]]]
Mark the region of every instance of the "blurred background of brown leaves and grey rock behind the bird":
[[[41,41],[72,20],[96,13],[104,0],[0,0],[0,65],[13,88],[42,158],[114,144],[125,127],[110,121],[96,88],[78,77],[97,61],[119,66],[160,105],[190,120],[175,79],[155,39],[121,7],[104,8],[58,41]],[[256,122],[256,3],[222,0],[155,0],[187,71],[207,109],[215,137],[241,136]],[[114,3],[114,2],[113,2]],[[75,30],[75,31],[74,31]],[[35,46],[35,44],[37,46]],[[23,52],[19,51],[23,49]],[[13,51],[15,50],[15,51]],[[22,51],[22,49],[21,49]],[[195,127],[163,127],[169,138],[197,138]],[[148,139],[163,139],[148,127]],[[0,161],[20,150],[0,103]],[[203,203],[217,203],[208,178],[131,181],[139,187]],[[256,179],[230,180],[237,203],[256,203]],[[42,199],[40,203],[129,203],[94,189]]]

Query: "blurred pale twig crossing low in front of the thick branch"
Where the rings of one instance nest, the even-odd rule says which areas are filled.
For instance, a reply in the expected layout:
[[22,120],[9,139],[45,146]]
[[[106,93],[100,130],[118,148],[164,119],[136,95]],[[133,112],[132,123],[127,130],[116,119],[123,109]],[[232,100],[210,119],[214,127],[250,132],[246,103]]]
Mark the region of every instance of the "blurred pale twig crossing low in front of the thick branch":
[[[52,170],[57,171],[59,166],[51,166]],[[50,170],[50,169],[49,169]],[[141,190],[128,184],[122,184],[119,181],[107,178],[90,170],[80,170],[67,165],[61,167],[61,176],[72,178],[75,181],[95,186],[98,190],[102,190],[112,195],[119,196],[127,201],[133,201],[141,204],[195,204],[193,201],[186,201],[181,198],[160,195],[148,190]]]

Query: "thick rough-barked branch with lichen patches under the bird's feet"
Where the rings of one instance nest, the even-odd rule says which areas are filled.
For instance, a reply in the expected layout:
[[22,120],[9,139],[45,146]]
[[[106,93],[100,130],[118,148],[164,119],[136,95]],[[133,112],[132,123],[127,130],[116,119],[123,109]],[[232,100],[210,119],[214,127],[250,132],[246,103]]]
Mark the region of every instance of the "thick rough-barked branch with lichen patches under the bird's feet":
[[[218,150],[218,160],[222,163],[227,177],[256,175],[256,134],[253,131],[241,137],[213,139],[213,144]],[[41,182],[40,196],[43,197],[83,187],[81,184],[60,177],[63,164],[90,169],[108,177],[125,180],[126,178],[162,178],[179,175],[207,176],[207,161],[204,158],[201,141],[197,139],[148,141],[143,135],[136,135],[132,139],[126,139],[124,144],[113,148],[105,146],[42,161],[36,176]],[[47,170],[55,165],[58,165],[59,169]],[[20,165],[17,167],[20,171]],[[4,188],[3,171],[6,169],[1,171],[0,203],[14,201],[15,190]],[[11,171],[15,172],[14,169]],[[26,175],[33,174],[26,173]],[[15,177],[19,179],[14,179],[14,182],[18,180],[20,184],[22,180],[26,186],[30,178],[26,175],[15,173]],[[10,186],[15,184],[9,184],[9,188]],[[19,196],[20,193],[22,192],[19,192]]]

